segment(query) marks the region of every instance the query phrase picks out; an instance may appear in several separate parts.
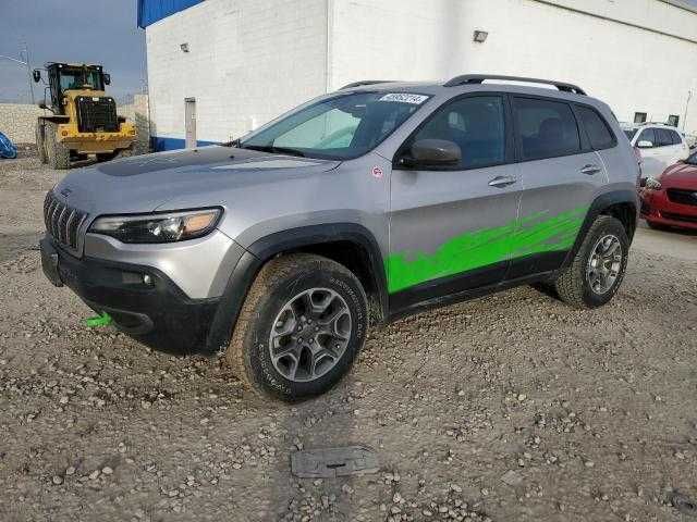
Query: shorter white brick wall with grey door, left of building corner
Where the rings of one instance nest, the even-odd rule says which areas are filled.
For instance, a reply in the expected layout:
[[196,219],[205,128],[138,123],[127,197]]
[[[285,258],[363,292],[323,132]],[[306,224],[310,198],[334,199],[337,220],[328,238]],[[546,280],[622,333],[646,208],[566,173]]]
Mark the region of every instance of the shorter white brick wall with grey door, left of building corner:
[[185,98],[196,99],[198,139],[225,141],[322,94],[325,5],[206,0],[148,26],[154,135],[184,139]]

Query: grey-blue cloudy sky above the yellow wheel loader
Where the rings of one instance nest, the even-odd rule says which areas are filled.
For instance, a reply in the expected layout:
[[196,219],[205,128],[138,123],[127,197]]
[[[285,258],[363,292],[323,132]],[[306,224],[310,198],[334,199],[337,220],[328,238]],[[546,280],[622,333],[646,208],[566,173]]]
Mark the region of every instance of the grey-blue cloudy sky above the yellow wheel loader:
[[[0,55],[20,58],[26,42],[33,67],[45,62],[101,63],[108,91],[123,101],[146,83],[145,30],[136,0],[0,0]],[[0,58],[0,101],[29,101],[26,69]],[[34,84],[36,101],[44,85]]]

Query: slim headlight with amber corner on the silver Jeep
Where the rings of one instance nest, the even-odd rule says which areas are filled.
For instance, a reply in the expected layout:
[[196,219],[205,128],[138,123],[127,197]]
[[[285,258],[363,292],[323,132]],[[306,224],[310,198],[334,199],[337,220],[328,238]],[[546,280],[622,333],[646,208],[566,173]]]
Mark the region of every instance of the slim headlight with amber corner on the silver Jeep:
[[97,217],[88,232],[122,243],[173,243],[201,237],[213,229],[221,209],[186,210],[161,214],[106,215]]

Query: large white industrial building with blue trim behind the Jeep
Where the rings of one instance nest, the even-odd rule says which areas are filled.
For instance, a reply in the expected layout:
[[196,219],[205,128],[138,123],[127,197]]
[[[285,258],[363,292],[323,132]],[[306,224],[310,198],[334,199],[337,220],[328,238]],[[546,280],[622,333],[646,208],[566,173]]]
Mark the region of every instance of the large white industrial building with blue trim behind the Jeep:
[[[621,121],[697,133],[683,0],[140,0],[158,150],[225,141],[359,79],[565,80]],[[188,125],[186,124],[188,122]]]

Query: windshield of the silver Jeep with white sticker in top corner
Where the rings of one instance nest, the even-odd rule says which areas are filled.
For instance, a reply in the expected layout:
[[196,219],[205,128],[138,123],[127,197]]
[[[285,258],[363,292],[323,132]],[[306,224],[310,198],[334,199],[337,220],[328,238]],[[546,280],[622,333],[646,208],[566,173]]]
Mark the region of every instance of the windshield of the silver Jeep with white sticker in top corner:
[[305,107],[241,141],[240,147],[347,160],[377,147],[430,97],[353,92]]

